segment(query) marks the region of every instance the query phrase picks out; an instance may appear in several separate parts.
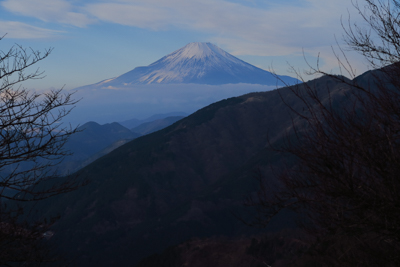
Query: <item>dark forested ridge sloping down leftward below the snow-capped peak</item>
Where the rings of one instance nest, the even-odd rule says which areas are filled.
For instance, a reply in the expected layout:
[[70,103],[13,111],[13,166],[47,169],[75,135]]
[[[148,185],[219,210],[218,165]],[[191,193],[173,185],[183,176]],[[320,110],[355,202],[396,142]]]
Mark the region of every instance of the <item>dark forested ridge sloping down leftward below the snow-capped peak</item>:
[[[346,102],[338,79],[308,83]],[[270,166],[291,164],[268,148],[301,124],[287,105],[303,108],[290,88],[225,99],[96,160],[77,173],[87,186],[41,203],[61,216],[49,242],[76,266],[129,266],[189,238],[256,233],[232,214],[248,211],[257,170],[274,179]],[[270,230],[292,225],[277,218]]]

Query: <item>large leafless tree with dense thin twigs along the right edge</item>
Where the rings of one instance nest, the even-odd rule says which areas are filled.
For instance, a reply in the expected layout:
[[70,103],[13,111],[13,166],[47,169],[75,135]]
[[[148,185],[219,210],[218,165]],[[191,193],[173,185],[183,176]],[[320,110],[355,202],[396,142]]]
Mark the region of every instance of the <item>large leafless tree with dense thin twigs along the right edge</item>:
[[304,109],[292,109],[294,130],[275,149],[296,164],[278,175],[277,191],[262,183],[247,202],[258,224],[298,212],[318,266],[400,266],[400,4],[361,2],[354,6],[369,28],[349,23],[345,40],[380,69],[351,81],[314,68],[342,84],[341,102],[330,88],[292,87]]

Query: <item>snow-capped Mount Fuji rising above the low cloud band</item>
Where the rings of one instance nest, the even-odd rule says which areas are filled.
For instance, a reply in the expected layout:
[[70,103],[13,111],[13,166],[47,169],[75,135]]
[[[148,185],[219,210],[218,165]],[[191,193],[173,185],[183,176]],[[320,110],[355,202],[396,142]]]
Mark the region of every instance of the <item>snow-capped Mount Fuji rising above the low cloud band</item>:
[[[290,76],[274,75],[246,63],[211,43],[189,43],[146,67],[90,85],[123,88],[136,84],[296,84]],[[85,86],[86,87],[86,86]]]

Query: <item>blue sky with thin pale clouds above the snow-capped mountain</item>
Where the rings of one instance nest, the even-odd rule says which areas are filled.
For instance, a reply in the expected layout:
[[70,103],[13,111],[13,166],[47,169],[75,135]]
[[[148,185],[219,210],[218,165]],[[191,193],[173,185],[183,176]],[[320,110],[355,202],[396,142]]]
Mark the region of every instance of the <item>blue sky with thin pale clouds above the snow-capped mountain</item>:
[[[338,73],[332,53],[342,42],[340,18],[359,20],[349,0],[2,0],[0,50],[17,43],[53,47],[37,64],[46,78],[27,88],[72,89],[147,66],[189,42],[211,42],[253,65],[290,75],[320,53]],[[357,57],[350,54],[350,59]],[[353,61],[357,73],[366,69]]]

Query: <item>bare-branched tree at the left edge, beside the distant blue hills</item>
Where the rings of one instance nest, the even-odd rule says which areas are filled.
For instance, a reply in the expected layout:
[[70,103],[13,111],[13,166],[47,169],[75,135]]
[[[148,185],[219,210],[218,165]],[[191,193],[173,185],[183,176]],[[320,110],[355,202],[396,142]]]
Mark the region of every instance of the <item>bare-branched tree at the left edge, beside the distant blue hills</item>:
[[28,223],[21,204],[79,186],[73,180],[50,182],[59,178],[51,167],[68,154],[63,145],[76,132],[61,120],[77,101],[62,90],[36,93],[21,84],[44,77],[39,69],[26,71],[51,51],[19,45],[0,51],[0,265],[34,265],[47,254],[43,240],[50,222]]

